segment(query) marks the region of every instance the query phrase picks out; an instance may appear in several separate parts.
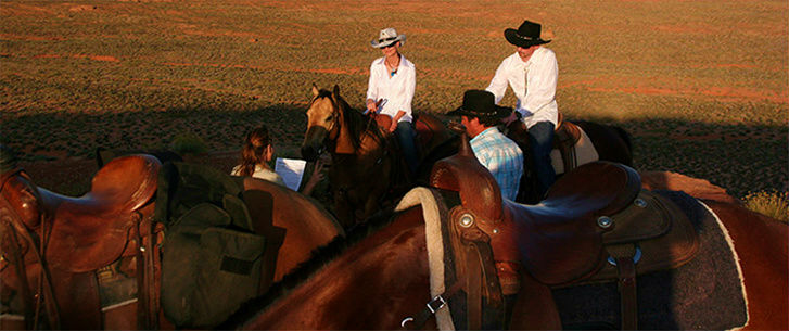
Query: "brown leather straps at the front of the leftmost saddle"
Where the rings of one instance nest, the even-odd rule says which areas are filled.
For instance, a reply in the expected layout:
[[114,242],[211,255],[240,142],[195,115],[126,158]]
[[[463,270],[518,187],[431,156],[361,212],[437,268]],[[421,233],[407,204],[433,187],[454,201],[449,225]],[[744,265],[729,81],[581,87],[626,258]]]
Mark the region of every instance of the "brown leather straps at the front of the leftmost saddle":
[[[24,225],[22,216],[3,194],[9,181],[16,178],[16,176],[22,177],[28,183],[31,182],[29,176],[27,176],[27,174],[21,168],[2,175],[2,183],[0,183],[0,211],[5,211],[5,213],[0,213],[0,230],[4,234],[3,237],[7,237],[9,240],[9,245],[7,247],[11,251],[8,252],[10,254],[9,257],[11,258],[10,265],[14,267],[20,282],[20,290],[22,292],[25,308],[25,327],[27,329],[38,329],[39,315],[43,306],[50,323],[49,328],[60,329],[60,311],[54,296],[52,276],[44,258],[48,242],[47,235],[49,234],[47,232],[46,211],[43,211],[40,205],[38,206],[38,215],[40,218],[38,233],[36,234],[35,232],[29,231]],[[34,196],[36,194],[34,194]],[[38,199],[39,196],[35,198]],[[38,242],[34,239],[34,235],[38,238]],[[33,252],[36,262],[38,262],[41,266],[36,294],[33,294],[30,291],[30,284],[27,279],[27,269],[25,268],[25,256],[23,254],[24,252],[22,252],[20,238],[27,243],[28,250]],[[5,254],[2,254],[2,258],[5,258]],[[35,303],[33,302],[34,297]]]

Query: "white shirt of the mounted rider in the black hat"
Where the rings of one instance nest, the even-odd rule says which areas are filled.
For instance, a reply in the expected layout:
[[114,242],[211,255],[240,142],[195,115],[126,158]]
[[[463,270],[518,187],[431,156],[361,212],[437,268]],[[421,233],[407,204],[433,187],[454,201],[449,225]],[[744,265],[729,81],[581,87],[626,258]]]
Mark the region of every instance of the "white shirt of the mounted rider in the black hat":
[[[526,71],[529,88],[526,89]],[[550,49],[539,47],[527,62],[516,52],[507,56],[496,69],[487,91],[496,96],[498,104],[507,92],[507,85],[518,98],[516,111],[523,115],[523,123],[532,127],[538,122],[557,125],[559,109],[556,104],[556,85],[559,80],[559,65]]]

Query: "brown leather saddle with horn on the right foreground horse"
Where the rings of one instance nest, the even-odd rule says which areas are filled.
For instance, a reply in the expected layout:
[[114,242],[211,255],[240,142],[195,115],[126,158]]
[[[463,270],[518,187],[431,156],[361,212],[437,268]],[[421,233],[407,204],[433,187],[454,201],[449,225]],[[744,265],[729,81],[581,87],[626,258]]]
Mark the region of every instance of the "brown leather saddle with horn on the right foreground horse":
[[[614,280],[622,327],[635,329],[636,275],[676,268],[698,250],[678,207],[641,190],[638,174],[621,164],[583,165],[560,178],[542,203],[523,205],[501,199],[463,137],[460,152],[436,163],[430,182],[458,192],[460,205],[446,221],[483,233],[501,295],[520,293],[512,329],[561,328],[550,287]],[[533,309],[534,302],[542,310]]]

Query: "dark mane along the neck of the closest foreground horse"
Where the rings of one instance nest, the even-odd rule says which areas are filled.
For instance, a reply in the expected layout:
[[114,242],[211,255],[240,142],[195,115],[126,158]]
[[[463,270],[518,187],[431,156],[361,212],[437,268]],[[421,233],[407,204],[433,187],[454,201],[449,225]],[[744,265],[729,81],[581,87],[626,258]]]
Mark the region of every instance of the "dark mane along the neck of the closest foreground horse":
[[353,228],[346,237],[336,237],[328,244],[313,251],[311,257],[300,264],[293,271],[282,277],[281,280],[273,283],[268,291],[262,296],[252,298],[244,303],[227,321],[218,326],[218,330],[239,329],[244,321],[255,317],[259,311],[269,305],[284,297],[300,284],[308,281],[313,276],[322,270],[335,258],[342,256],[348,249],[353,247],[360,241],[367,239],[372,233],[386,228],[404,212],[393,212],[392,209],[383,209],[374,214],[364,225]]

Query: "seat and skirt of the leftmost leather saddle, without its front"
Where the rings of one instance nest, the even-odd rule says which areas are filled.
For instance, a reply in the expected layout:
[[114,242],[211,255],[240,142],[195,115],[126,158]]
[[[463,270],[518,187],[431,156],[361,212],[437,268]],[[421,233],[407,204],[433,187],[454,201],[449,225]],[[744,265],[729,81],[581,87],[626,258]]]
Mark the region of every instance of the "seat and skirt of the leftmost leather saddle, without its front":
[[47,259],[54,268],[84,272],[120,257],[129,230],[151,211],[161,163],[151,155],[115,158],[93,177],[80,198],[38,188],[44,215],[51,220]]

